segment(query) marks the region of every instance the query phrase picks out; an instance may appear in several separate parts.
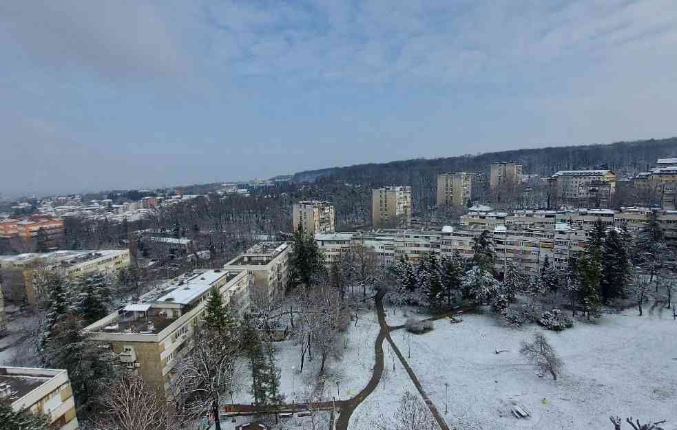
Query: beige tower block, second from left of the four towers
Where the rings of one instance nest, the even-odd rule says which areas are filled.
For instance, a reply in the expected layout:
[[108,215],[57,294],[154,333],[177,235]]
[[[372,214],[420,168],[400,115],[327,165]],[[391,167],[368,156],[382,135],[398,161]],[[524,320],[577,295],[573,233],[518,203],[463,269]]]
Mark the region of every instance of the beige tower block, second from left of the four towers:
[[374,228],[395,228],[411,223],[411,187],[382,186],[371,193]]

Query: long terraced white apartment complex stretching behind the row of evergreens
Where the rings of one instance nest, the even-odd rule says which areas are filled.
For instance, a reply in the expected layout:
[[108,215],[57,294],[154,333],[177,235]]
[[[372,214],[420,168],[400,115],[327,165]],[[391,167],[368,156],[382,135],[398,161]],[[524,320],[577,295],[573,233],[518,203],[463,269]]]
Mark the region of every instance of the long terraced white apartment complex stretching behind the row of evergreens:
[[497,257],[494,270],[499,275],[512,261],[522,272],[535,276],[545,257],[556,268],[567,266],[570,257],[583,250],[587,232],[597,219],[607,228],[625,226],[631,235],[636,235],[652,212],[666,237],[677,240],[677,211],[623,208],[500,212],[488,206],[473,206],[461,216],[458,227],[316,234],[315,241],[328,264],[357,246],[371,248],[383,264],[391,264],[403,257],[418,262],[430,253],[450,257],[458,252],[462,257],[472,257],[475,238],[487,230]]

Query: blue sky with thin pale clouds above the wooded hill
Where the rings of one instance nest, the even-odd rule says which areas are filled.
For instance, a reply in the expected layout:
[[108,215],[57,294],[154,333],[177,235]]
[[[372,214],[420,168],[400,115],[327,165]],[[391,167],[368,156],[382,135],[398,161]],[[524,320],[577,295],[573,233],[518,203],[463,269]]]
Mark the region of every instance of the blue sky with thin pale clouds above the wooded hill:
[[0,2],[0,193],[677,135],[674,0]]

